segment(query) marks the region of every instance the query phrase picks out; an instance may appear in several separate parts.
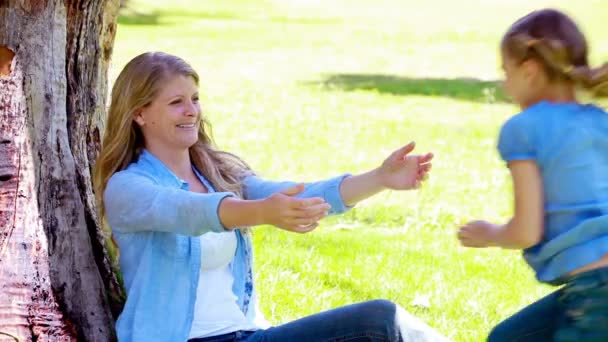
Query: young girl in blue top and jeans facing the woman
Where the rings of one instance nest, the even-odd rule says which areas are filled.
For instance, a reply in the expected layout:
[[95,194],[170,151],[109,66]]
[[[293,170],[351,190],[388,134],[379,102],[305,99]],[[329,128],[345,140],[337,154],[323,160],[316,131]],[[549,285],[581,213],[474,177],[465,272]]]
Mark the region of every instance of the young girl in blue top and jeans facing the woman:
[[505,91],[522,112],[498,150],[513,178],[504,225],[473,221],[467,247],[524,250],[539,281],[562,288],[499,324],[490,341],[608,341],[608,114],[578,103],[581,85],[608,94],[608,64],[592,69],[576,24],[551,9],[515,22],[501,43]]

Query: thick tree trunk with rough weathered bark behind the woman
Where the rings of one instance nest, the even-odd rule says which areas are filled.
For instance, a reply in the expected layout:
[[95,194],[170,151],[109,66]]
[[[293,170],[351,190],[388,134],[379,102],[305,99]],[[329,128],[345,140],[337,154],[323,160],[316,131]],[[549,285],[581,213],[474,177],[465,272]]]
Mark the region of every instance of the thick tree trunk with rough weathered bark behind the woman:
[[114,340],[95,210],[118,0],[0,0],[0,341]]

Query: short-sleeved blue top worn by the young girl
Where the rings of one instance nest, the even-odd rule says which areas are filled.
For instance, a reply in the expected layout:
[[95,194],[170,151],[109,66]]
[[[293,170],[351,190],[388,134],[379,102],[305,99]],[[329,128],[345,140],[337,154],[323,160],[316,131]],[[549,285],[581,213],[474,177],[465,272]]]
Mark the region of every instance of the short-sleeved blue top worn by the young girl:
[[608,253],[608,114],[593,105],[540,102],[502,127],[506,161],[534,160],[544,189],[544,234],[524,251],[542,282]]

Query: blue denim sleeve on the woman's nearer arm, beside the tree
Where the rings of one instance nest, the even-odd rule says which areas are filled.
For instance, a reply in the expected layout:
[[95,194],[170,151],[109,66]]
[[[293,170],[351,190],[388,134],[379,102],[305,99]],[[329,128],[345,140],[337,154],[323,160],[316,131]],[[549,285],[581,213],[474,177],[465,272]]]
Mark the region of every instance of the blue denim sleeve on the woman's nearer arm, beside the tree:
[[218,208],[229,196],[234,194],[201,194],[165,187],[146,176],[121,171],[110,178],[103,197],[106,218],[113,230],[196,236],[225,230]]

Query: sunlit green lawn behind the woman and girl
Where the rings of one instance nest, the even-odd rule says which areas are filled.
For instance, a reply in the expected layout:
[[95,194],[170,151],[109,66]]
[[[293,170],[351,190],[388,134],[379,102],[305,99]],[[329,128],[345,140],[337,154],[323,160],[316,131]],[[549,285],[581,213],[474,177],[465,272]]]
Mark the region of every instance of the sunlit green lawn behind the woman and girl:
[[[568,11],[608,60],[608,2],[414,0],[131,1],[110,79],[162,50],[201,75],[221,148],[271,179],[309,181],[378,165],[415,140],[432,151],[416,192],[386,192],[311,234],[255,231],[262,311],[275,324],[386,298],[454,341],[481,341],[550,289],[518,252],[468,250],[455,231],[511,214],[495,151],[517,111],[498,89],[497,44],[533,8]],[[533,3],[533,5],[531,5]]]

